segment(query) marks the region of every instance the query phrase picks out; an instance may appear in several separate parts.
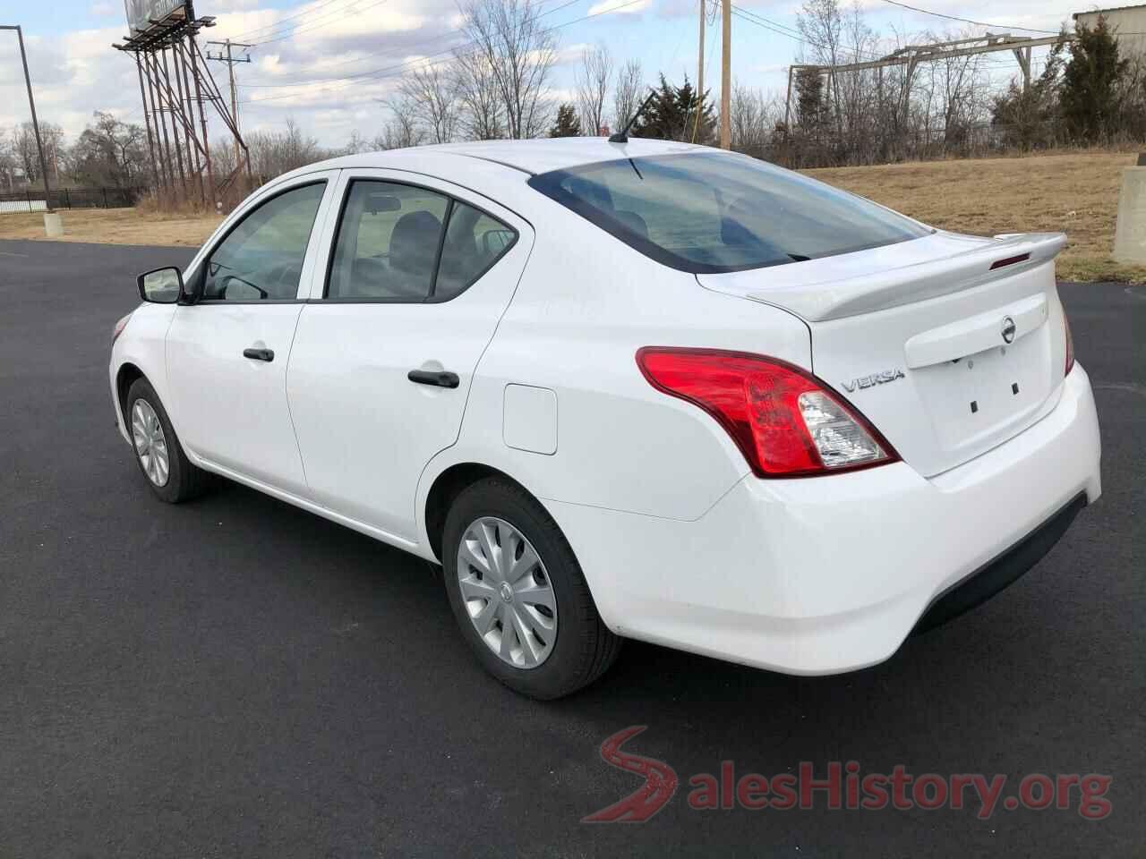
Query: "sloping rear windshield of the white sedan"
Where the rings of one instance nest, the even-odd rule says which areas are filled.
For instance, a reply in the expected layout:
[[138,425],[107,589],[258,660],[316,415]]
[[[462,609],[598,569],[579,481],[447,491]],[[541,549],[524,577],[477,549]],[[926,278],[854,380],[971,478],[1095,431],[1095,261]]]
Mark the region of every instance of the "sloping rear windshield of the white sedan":
[[587,164],[529,184],[646,257],[696,274],[862,251],[929,230],[874,203],[746,156]]

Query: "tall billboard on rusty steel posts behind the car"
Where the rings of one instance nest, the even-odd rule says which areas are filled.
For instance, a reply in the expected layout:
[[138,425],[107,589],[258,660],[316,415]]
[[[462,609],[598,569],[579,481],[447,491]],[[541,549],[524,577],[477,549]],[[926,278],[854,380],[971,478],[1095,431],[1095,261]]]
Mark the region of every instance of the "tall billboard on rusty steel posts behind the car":
[[[195,17],[191,0],[124,0],[124,10],[129,34],[112,47],[131,55],[139,70],[156,195],[167,204],[198,199],[213,208],[245,194],[250,153],[196,42],[214,18]],[[240,153],[227,175],[211,161],[209,113],[222,120]]]

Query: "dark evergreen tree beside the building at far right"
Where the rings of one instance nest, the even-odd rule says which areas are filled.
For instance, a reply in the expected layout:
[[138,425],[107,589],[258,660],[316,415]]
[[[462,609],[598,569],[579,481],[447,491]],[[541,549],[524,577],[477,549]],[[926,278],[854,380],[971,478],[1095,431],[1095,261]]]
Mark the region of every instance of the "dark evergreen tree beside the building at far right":
[[1070,42],[1070,60],[1062,73],[1059,102],[1067,133],[1094,142],[1114,131],[1118,113],[1118,79],[1129,60],[1118,58],[1118,42],[1100,15],[1094,29],[1075,25],[1077,40]]

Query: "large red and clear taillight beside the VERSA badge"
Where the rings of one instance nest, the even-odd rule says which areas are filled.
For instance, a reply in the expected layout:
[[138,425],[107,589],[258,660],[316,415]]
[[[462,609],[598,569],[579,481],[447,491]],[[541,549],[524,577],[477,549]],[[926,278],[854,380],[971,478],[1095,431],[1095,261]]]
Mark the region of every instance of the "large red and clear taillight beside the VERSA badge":
[[712,415],[760,478],[866,468],[898,456],[862,415],[784,361],[721,349],[647,346],[649,383]]

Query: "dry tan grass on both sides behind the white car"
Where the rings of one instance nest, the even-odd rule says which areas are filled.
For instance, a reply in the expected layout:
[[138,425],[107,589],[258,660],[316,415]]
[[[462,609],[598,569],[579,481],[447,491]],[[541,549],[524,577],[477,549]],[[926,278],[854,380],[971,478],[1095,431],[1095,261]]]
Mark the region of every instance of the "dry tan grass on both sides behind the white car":
[[[1061,230],[1069,237],[1059,276],[1075,281],[1146,281],[1146,268],[1110,259],[1121,171],[1129,152],[923,161],[808,171],[943,229],[994,235]],[[215,215],[134,208],[64,211],[64,239],[126,245],[202,244]],[[40,214],[0,215],[0,238],[42,238]]]

